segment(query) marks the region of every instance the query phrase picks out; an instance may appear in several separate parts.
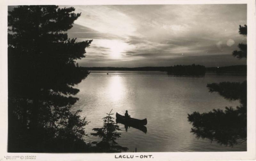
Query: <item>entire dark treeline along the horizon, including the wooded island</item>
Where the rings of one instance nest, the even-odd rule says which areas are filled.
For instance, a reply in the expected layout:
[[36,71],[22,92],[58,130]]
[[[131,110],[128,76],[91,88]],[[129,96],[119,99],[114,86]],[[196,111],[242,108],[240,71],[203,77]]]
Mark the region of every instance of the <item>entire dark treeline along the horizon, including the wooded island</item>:
[[234,73],[246,73],[246,65],[232,65],[227,67],[204,67],[202,65],[174,65],[168,67],[136,67],[136,68],[125,68],[125,67],[83,67],[86,70],[119,70],[119,71],[165,71],[175,75],[186,75],[185,73],[194,73],[195,75],[202,75],[205,72],[234,72]]

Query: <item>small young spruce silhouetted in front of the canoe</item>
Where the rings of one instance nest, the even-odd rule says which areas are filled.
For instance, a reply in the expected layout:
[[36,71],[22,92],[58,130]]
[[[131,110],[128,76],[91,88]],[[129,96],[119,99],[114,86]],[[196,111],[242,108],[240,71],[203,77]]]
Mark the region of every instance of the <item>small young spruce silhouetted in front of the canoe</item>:
[[121,129],[115,123],[114,118],[111,116],[114,113],[111,112],[112,110],[107,113],[106,117],[102,118],[104,122],[103,127],[93,128],[92,130],[96,131],[96,133],[92,133],[91,135],[102,138],[102,141],[97,143],[97,147],[102,152],[121,152],[121,150],[127,151],[127,147],[122,147],[116,142],[116,139],[121,137],[121,134],[117,133],[116,131]]

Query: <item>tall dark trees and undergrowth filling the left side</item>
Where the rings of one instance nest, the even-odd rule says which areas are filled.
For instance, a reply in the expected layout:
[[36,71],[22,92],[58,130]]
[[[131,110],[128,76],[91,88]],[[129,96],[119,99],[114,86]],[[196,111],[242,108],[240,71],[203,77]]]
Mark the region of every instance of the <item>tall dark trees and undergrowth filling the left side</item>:
[[63,33],[73,7],[18,6],[8,12],[8,152],[80,152],[85,118],[70,108],[89,72],[76,67],[92,40]]

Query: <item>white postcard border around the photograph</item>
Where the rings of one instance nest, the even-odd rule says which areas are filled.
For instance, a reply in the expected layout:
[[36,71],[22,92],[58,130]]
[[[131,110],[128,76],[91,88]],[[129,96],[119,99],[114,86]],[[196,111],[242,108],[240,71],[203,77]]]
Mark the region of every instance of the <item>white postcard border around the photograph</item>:
[[[247,151],[246,152],[148,152],[148,153],[7,153],[7,6],[8,5],[110,5],[110,4],[247,4]],[[153,155],[151,159],[130,160],[255,160],[255,0],[4,0],[0,2],[0,161],[4,156],[36,155],[45,161],[99,161],[115,155]],[[16,159],[21,160],[21,159]]]

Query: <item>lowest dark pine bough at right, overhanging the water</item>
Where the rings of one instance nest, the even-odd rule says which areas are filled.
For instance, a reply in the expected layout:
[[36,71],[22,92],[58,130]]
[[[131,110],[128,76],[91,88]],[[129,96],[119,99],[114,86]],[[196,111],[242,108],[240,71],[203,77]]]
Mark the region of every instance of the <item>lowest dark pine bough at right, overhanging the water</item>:
[[233,146],[246,141],[246,109],[226,107],[226,110],[213,109],[208,113],[188,114],[192,122],[191,132],[198,138],[207,138],[217,143]]

